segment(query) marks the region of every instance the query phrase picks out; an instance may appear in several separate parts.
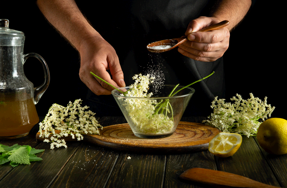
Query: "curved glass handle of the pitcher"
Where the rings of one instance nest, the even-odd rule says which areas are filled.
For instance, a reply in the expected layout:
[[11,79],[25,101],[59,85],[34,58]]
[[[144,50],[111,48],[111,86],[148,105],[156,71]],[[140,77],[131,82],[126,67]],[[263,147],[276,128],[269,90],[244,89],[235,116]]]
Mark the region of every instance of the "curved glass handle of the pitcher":
[[38,87],[34,87],[33,102],[34,104],[37,104],[41,96],[43,95],[43,93],[48,88],[48,85],[50,83],[50,73],[49,73],[49,69],[48,69],[48,66],[45,60],[39,54],[36,54],[36,53],[25,54],[23,64],[29,57],[36,57],[42,63],[43,69],[44,69],[44,83]]

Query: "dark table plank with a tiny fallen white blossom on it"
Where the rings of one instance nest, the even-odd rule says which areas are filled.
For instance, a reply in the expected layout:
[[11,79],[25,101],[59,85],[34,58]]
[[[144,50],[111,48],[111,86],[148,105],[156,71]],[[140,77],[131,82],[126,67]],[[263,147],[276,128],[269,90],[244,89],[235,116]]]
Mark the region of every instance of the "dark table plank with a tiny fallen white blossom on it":
[[162,187],[166,156],[121,153],[107,188]]

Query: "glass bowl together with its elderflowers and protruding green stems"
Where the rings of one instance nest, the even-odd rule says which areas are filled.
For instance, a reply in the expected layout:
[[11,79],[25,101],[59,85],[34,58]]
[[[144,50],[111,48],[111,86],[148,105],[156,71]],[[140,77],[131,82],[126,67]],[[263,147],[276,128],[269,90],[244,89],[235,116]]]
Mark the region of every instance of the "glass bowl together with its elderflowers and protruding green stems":
[[[97,79],[107,81],[90,72]],[[214,71],[187,86],[155,85],[156,94],[149,91],[154,83],[151,75],[134,75],[135,83],[129,87],[116,88],[112,95],[117,101],[134,135],[141,138],[163,138],[172,135],[195,90],[189,87],[210,77]]]

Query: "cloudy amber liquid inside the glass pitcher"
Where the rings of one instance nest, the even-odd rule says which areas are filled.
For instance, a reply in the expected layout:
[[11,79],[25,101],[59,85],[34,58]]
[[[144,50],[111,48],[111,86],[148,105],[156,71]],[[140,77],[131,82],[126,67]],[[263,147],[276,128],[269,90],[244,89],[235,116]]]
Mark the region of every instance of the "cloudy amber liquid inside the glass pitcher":
[[0,137],[28,134],[39,117],[32,98],[24,101],[0,101]]

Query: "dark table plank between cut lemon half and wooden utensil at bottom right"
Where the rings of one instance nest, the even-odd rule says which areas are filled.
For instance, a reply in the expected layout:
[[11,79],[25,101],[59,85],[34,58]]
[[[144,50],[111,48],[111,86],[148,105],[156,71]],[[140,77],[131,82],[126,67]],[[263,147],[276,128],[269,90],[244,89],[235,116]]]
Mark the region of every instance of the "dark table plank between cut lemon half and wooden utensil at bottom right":
[[242,144],[231,157],[219,158],[218,170],[234,173],[261,183],[280,186],[252,137],[242,136]]

